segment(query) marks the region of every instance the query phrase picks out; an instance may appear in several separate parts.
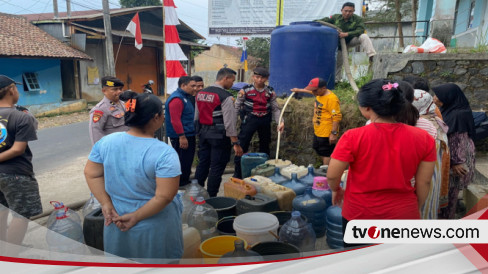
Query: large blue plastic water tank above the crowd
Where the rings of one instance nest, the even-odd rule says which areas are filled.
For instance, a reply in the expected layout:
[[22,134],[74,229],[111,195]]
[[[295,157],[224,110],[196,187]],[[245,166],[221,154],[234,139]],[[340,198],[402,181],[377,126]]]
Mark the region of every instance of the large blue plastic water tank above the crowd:
[[269,83],[278,95],[321,77],[334,89],[337,30],[318,22],[293,22],[271,32]]

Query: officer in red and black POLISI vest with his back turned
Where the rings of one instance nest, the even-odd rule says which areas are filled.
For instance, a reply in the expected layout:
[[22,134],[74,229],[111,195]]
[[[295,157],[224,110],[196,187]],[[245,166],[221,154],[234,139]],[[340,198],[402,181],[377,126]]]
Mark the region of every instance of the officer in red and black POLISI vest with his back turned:
[[237,114],[234,97],[226,89],[232,87],[236,72],[222,68],[214,85],[197,93],[195,122],[198,128],[198,166],[195,178],[201,186],[207,181],[210,197],[217,196],[222,174],[230,160],[231,147],[235,155],[242,156],[237,138]]

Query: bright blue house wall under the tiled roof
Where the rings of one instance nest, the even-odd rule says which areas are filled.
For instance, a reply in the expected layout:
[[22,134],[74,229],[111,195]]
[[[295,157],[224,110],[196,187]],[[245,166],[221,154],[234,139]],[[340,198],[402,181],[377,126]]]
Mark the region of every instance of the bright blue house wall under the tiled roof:
[[61,102],[63,88],[61,61],[59,59],[0,58],[0,74],[7,75],[22,83],[22,74],[26,72],[37,74],[41,88],[37,91],[24,91],[25,87],[19,86],[19,105],[28,106]]

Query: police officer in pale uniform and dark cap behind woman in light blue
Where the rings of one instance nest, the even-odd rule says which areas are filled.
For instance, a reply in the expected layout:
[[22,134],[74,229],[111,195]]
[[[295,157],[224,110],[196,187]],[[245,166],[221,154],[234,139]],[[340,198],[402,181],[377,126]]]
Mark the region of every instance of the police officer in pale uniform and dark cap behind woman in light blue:
[[124,102],[119,100],[123,87],[124,82],[115,77],[102,78],[104,97],[90,110],[89,128],[92,145],[105,135],[129,130],[129,127],[124,125]]

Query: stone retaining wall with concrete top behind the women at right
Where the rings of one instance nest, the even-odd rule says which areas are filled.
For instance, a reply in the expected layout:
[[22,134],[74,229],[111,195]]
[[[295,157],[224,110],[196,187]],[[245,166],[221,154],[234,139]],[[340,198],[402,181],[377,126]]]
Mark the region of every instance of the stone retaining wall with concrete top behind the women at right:
[[430,86],[455,83],[474,111],[488,111],[488,54],[378,54],[373,78],[425,77]]

